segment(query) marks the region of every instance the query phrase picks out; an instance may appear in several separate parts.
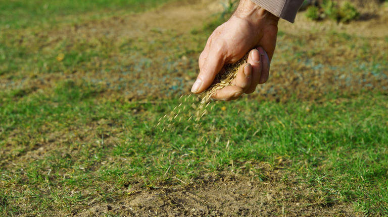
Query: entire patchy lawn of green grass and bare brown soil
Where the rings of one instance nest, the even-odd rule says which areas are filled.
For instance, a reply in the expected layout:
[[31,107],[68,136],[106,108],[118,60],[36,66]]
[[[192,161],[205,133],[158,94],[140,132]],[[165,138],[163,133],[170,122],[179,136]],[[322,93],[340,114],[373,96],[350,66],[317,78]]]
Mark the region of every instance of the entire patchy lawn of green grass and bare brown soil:
[[193,121],[222,4],[22,2],[0,4],[0,215],[388,214],[386,4],[280,22],[270,80]]

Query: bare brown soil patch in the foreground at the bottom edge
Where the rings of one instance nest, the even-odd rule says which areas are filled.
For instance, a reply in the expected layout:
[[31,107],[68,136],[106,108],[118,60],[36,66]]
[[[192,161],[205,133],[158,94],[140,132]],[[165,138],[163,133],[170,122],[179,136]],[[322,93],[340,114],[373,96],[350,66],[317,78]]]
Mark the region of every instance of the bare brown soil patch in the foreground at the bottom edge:
[[[351,204],[325,201],[316,188],[269,165],[258,174],[205,174],[184,186],[132,187],[75,216],[361,216]],[[264,177],[264,178],[263,178]]]

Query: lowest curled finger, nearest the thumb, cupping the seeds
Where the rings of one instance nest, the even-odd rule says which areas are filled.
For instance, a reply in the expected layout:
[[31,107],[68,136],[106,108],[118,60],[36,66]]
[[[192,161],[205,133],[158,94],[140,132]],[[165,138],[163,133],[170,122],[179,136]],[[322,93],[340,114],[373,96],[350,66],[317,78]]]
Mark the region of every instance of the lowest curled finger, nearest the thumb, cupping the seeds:
[[245,63],[238,69],[236,78],[232,81],[234,86],[227,86],[217,90],[212,98],[215,100],[229,101],[240,97],[250,86],[252,81],[252,65]]

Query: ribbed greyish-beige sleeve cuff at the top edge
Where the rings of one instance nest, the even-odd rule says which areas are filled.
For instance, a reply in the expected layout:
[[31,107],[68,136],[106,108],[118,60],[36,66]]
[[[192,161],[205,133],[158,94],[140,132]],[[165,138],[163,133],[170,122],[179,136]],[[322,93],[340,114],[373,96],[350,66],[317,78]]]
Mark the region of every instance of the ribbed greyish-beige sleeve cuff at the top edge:
[[303,0],[252,0],[271,14],[294,23]]

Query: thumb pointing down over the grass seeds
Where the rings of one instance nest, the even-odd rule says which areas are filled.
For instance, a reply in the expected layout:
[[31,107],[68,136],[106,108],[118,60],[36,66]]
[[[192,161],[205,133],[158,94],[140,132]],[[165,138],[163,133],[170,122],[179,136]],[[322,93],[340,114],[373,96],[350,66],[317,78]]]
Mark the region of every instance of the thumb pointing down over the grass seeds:
[[219,73],[225,62],[220,53],[221,52],[212,52],[209,50],[209,54],[201,67],[197,81],[191,87],[192,93],[202,93],[213,83],[214,78]]

